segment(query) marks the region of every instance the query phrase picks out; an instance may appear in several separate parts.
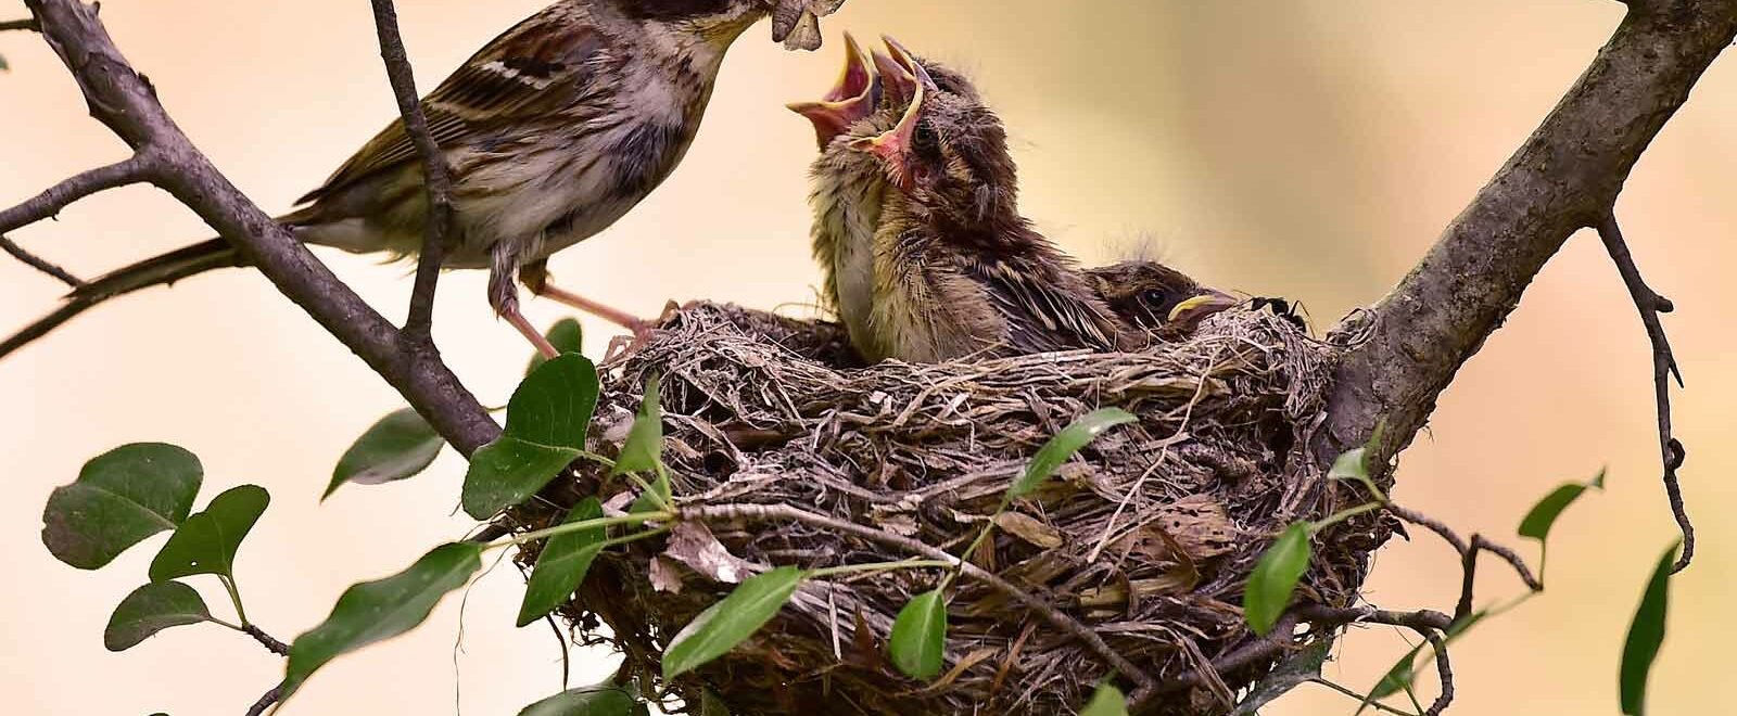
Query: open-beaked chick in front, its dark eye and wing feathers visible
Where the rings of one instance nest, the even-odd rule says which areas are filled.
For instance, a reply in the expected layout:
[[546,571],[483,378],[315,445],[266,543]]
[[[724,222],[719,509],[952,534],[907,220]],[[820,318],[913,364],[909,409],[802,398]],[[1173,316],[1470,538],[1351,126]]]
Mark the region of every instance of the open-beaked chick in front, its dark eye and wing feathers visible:
[[886,132],[848,144],[875,158],[888,184],[863,356],[943,361],[1143,344],[1073,259],[1020,215],[1018,172],[995,113],[974,89],[945,90],[896,42],[889,47],[915,78],[908,106]]

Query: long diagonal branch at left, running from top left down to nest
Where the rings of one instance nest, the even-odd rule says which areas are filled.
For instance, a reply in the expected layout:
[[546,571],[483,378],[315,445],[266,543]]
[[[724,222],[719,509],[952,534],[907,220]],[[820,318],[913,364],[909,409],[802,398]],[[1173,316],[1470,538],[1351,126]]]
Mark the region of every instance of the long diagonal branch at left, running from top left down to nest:
[[151,181],[240,247],[283,295],[398,389],[459,452],[469,455],[500,426],[431,351],[401,351],[398,328],[337,280],[181,132],[156,94],[127,64],[96,9],[78,0],[26,0],[43,36],[78,80],[90,115],[134,149],[151,148]]

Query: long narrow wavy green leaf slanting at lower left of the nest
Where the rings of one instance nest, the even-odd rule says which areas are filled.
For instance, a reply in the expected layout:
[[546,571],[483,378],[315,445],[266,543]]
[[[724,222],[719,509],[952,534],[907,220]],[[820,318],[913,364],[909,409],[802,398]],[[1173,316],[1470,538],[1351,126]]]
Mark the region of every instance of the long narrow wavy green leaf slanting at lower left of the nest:
[[332,659],[415,629],[443,596],[462,587],[481,567],[481,544],[453,542],[434,547],[408,570],[344,589],[332,615],[290,645],[283,699]]

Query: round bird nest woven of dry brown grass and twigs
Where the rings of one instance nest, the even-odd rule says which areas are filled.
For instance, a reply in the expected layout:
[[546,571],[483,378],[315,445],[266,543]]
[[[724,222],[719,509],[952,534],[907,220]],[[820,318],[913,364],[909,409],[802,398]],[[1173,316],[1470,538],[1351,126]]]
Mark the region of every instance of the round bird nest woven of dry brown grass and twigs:
[[[1018,501],[971,560],[1167,685],[1150,713],[1221,714],[1277,660],[1209,667],[1258,640],[1240,603],[1261,551],[1294,520],[1364,501],[1306,454],[1336,353],[1277,316],[1232,311],[1143,353],[865,368],[846,367],[832,323],[695,304],[610,370],[592,434],[613,452],[657,372],[679,504],[794,506],[959,554],[1049,436],[1091,410],[1126,408],[1138,424],[1105,433]],[[584,467],[545,490],[547,506],[514,516],[540,527],[599,490],[620,509],[632,497]],[[1351,603],[1384,537],[1374,520],[1318,535],[1301,598]],[[599,558],[563,613],[650,678],[667,641],[728,594],[721,580],[912,556],[804,523],[684,523]],[[700,713],[710,692],[736,716],[1072,714],[1112,671],[1082,640],[964,579],[948,603],[943,676],[900,676],[884,657],[893,619],[941,577],[809,582],[752,640],[669,685],[681,697],[670,707]]]

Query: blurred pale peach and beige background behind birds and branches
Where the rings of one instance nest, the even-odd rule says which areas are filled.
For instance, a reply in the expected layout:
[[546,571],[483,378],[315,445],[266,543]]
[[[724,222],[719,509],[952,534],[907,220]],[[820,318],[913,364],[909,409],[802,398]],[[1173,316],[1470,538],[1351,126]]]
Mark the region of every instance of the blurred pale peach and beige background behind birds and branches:
[[[405,2],[424,87],[542,0]],[[104,17],[168,109],[219,167],[285,210],[393,113],[361,0],[111,0]],[[804,172],[813,136],[780,108],[834,75],[837,31],[891,31],[980,78],[1018,139],[1027,212],[1089,261],[1148,235],[1223,287],[1301,299],[1318,322],[1374,301],[1435,240],[1551,108],[1621,17],[1588,0],[1058,2],[853,0],[818,56],[783,54],[756,28],[724,68],[686,165],[637,212],[556,259],[591,294],[651,315],[665,299],[769,308],[813,295]],[[0,17],[23,16],[16,0]],[[116,160],[59,63],[0,36],[0,202]],[[1668,325],[1690,389],[1676,398],[1685,488],[1702,554],[1674,582],[1673,634],[1654,713],[1720,713],[1737,598],[1728,514],[1737,490],[1737,68],[1727,57],[1641,162],[1621,203],[1648,278],[1676,299]],[[16,238],[85,275],[177,247],[205,229],[156,191],[115,191]],[[401,315],[400,268],[321,254]],[[596,269],[594,269],[596,268]],[[483,276],[443,283],[438,337],[485,401],[514,384],[526,346],[495,323]],[[0,262],[0,328],[50,308],[61,287]],[[532,302],[535,320],[563,311]],[[601,327],[591,323],[592,349]],[[1674,535],[1657,485],[1647,344],[1596,238],[1577,236],[1443,396],[1405,455],[1398,499],[1466,532],[1509,537],[1563,480],[1610,466],[1610,492],[1565,518],[1551,591],[1454,652],[1459,714],[1614,714],[1628,615]],[[82,573],[38,542],[49,490],[90,455],[137,440],[198,452],[207,490],[255,481],[276,504],[243,551],[250,613],[292,638],[351,582],[394,572],[459,535],[462,464],[316,497],[347,441],[400,400],[255,275],[229,271],[104,308],[0,365],[0,711],[234,714],[280,662],[221,629],[179,629],[108,653],[109,608],[142,580],[151,547]],[[153,540],[151,546],[158,544]],[[1509,539],[1513,542],[1513,539]],[[1529,547],[1530,549],[1530,547]],[[502,568],[408,638],[346,657],[295,714],[509,714],[559,686],[545,627],[514,631],[521,580]],[[1457,568],[1433,539],[1381,554],[1369,596],[1452,605]],[[1483,596],[1516,582],[1485,570]],[[201,584],[212,587],[212,584]],[[226,610],[221,591],[207,589]],[[1348,641],[1329,674],[1362,688],[1402,650],[1397,634]],[[575,683],[606,673],[575,660]],[[196,673],[208,674],[205,678]],[[1304,688],[1270,714],[1346,714]]]

